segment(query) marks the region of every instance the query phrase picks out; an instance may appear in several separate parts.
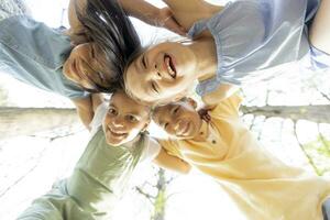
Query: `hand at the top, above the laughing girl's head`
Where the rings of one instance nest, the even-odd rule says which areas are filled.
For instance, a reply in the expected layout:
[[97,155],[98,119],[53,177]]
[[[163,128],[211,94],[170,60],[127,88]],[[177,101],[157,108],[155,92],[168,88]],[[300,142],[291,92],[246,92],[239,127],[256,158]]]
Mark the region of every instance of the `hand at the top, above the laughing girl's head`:
[[155,25],[163,26],[183,36],[187,34],[187,31],[175,20],[168,7],[160,9]]

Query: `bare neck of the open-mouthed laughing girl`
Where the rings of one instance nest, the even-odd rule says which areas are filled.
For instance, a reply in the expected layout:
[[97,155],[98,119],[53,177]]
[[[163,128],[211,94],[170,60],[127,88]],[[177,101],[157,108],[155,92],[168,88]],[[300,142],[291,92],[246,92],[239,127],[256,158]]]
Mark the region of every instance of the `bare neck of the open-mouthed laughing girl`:
[[188,45],[197,58],[196,77],[199,81],[211,78],[217,72],[217,51],[212,37],[201,37]]

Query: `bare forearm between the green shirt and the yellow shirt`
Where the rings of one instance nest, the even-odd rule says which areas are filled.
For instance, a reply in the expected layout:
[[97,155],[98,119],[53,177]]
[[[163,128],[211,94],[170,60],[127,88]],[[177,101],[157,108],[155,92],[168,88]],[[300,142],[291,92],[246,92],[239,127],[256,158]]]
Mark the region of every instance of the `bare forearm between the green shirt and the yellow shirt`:
[[167,154],[167,152],[163,147],[153,162],[162,168],[174,170],[180,174],[188,174],[191,168],[191,166],[187,162]]

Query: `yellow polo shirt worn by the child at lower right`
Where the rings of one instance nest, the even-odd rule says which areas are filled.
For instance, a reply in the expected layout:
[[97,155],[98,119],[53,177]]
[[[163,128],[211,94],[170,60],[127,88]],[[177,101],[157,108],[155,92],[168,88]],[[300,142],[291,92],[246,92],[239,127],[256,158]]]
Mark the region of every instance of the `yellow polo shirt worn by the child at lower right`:
[[201,130],[209,130],[207,141],[166,140],[162,146],[217,179],[246,219],[321,220],[329,179],[288,166],[260,146],[239,119],[240,103],[234,95],[209,112]]

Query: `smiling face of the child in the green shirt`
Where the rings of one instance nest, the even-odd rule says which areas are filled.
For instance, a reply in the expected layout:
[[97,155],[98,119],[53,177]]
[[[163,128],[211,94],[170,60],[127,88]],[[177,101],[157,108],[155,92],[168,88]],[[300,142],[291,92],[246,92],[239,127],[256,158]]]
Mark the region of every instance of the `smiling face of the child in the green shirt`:
[[148,122],[148,107],[139,105],[123,91],[114,92],[102,124],[107,143],[118,146],[132,141]]

